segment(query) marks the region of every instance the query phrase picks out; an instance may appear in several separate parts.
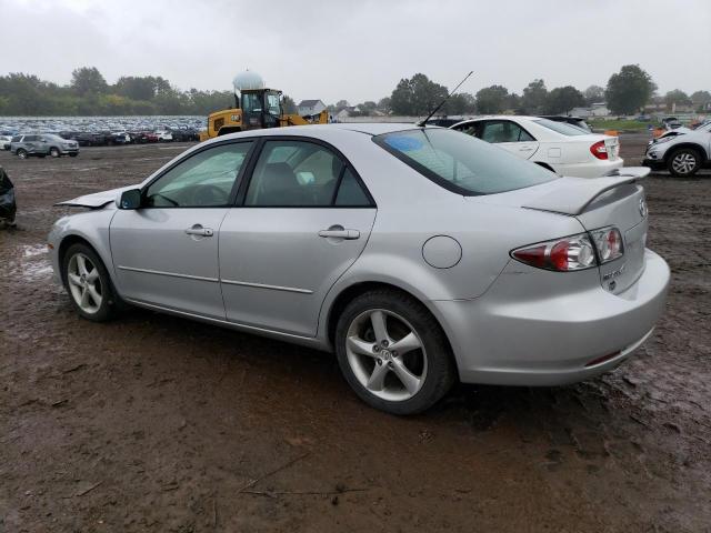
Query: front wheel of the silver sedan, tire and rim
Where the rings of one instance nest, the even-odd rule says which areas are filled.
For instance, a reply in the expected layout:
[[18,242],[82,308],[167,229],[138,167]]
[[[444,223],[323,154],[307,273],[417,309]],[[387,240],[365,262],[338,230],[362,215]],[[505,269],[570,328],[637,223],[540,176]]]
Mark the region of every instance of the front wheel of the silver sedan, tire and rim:
[[87,244],[69,247],[62,261],[64,286],[81,316],[104,322],[116,313],[117,298],[99,255]]

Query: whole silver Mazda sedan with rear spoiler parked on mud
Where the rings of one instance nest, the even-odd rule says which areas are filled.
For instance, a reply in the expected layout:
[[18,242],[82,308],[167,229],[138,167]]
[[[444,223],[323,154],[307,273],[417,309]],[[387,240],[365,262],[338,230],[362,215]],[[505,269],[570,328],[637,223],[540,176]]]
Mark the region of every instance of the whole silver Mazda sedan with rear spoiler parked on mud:
[[80,197],[49,235],[79,314],[123,304],[336,352],[367,403],[457,381],[558,385],[625,360],[664,308],[639,180],[559,178],[441,128],[219,137]]

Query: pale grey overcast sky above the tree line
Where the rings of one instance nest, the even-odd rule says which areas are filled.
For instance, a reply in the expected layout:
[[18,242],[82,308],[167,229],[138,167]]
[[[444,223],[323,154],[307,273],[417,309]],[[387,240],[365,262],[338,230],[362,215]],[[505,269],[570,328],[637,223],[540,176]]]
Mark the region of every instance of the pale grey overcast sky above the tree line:
[[661,93],[711,90],[711,0],[0,0],[0,74],[58,83],[93,66],[226,90],[249,68],[297,100],[358,103],[417,72],[520,93],[639,63]]

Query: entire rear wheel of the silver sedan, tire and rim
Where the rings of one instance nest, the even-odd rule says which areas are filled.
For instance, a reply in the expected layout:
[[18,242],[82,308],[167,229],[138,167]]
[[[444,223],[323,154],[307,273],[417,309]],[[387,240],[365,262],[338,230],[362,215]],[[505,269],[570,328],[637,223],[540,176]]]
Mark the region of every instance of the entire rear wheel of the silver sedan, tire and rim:
[[455,381],[440,325],[420,302],[397,291],[368,292],[348,304],[336,329],[336,353],[360,399],[392,414],[431,408]]

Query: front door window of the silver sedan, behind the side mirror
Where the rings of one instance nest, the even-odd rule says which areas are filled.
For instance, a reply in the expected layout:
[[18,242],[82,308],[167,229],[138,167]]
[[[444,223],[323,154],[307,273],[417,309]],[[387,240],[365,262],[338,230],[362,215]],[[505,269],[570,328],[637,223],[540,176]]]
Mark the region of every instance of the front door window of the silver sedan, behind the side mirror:
[[230,194],[252,142],[220,144],[181,161],[146,190],[147,208],[217,208]]

